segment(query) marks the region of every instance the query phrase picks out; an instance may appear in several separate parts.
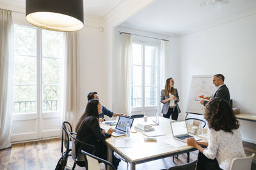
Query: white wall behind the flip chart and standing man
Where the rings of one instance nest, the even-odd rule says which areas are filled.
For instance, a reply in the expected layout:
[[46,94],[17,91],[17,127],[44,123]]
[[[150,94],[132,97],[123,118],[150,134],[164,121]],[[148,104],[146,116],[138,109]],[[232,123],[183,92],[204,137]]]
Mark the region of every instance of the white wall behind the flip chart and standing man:
[[[182,111],[186,111],[191,76],[217,74],[225,76],[233,107],[241,113],[256,114],[256,15],[182,36],[180,73]],[[256,143],[255,122],[239,121],[244,140]]]

